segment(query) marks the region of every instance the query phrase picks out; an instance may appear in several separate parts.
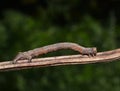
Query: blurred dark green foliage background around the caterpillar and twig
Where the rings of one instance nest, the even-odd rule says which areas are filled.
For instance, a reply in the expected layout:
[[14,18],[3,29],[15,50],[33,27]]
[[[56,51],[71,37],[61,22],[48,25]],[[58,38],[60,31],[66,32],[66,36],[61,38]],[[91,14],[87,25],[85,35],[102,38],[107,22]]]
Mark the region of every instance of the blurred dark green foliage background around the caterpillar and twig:
[[[75,42],[120,47],[119,0],[0,0],[0,60],[19,51]],[[78,54],[61,50],[40,57]],[[0,91],[120,91],[120,62],[0,72]]]

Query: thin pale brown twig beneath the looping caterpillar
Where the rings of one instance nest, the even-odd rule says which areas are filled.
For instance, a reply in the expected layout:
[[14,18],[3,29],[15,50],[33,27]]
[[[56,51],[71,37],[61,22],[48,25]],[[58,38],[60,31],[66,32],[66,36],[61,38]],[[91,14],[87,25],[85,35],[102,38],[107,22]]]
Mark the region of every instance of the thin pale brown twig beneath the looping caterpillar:
[[16,64],[12,64],[12,61],[0,62],[0,71],[21,70],[34,67],[110,62],[117,59],[120,59],[120,49],[99,52],[95,57],[88,57],[86,55],[68,55],[37,58],[33,59],[31,63],[27,63],[27,60],[19,60]]

